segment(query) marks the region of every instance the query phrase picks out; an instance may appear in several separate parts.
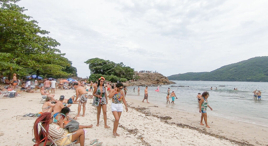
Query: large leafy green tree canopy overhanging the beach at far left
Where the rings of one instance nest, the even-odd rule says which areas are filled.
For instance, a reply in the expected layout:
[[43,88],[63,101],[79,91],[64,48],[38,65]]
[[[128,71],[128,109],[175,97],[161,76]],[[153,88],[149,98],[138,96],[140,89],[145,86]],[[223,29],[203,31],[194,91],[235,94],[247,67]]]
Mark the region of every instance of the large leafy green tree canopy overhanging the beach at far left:
[[16,5],[17,1],[0,1],[1,74],[76,75],[76,68],[56,48],[60,44],[46,36],[49,32],[42,30],[37,21],[23,14],[27,9]]

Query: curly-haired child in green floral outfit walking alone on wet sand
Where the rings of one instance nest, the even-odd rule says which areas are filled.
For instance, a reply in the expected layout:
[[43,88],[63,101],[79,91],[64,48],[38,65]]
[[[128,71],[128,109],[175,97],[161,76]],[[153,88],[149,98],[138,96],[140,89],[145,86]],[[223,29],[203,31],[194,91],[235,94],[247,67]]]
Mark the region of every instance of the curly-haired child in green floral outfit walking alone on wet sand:
[[203,98],[199,102],[199,113],[202,112],[200,125],[204,125],[203,124],[203,118],[204,118],[206,127],[210,128],[210,126],[207,124],[207,107],[209,107],[210,110],[212,110],[212,108],[209,106],[207,102],[207,98],[209,98],[209,92],[203,92],[202,97]]

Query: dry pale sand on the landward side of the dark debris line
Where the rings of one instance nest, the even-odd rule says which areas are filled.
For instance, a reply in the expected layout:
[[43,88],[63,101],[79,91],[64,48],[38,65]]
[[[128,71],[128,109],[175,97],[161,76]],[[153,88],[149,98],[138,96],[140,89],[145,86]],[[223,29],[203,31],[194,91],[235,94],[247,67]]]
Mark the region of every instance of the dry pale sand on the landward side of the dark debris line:
[[[41,96],[40,92],[26,93],[19,92],[22,96],[16,98],[0,99],[0,115],[1,115],[1,129],[0,145],[33,145],[32,134],[33,123],[35,119],[16,119],[17,115],[24,115],[27,113],[38,113],[42,111],[42,104],[39,104]],[[70,98],[75,93],[73,90],[56,90],[55,98],[58,99],[60,95],[65,98]],[[92,93],[90,93],[92,95]],[[127,100],[128,101],[128,100]],[[104,128],[103,114],[101,113],[100,126],[97,127],[96,108],[93,107],[92,99],[88,99],[86,105],[85,117],[80,117],[77,121],[80,125],[93,124],[92,128],[88,128],[88,133],[85,136],[85,145],[90,145],[91,140],[97,138],[103,142],[103,145],[143,145],[138,137],[144,137],[143,140],[150,145],[235,145],[228,140],[221,140],[212,136],[199,133],[196,130],[187,128],[180,128],[175,125],[170,125],[161,122],[160,119],[152,116],[147,116],[129,108],[128,112],[122,112],[120,118],[120,125],[128,129],[138,129],[136,136],[128,133],[123,128],[118,127],[117,133],[120,137],[113,138],[112,128],[114,117],[110,109],[111,100],[107,105],[107,124],[111,127]],[[129,103],[129,102],[128,102]],[[133,105],[132,105],[133,106]],[[70,115],[77,114],[77,104],[72,104],[70,107]],[[82,114],[82,110],[81,113]],[[142,116],[139,116],[142,115]],[[136,144],[135,144],[136,143]],[[76,144],[79,145],[79,144]]]

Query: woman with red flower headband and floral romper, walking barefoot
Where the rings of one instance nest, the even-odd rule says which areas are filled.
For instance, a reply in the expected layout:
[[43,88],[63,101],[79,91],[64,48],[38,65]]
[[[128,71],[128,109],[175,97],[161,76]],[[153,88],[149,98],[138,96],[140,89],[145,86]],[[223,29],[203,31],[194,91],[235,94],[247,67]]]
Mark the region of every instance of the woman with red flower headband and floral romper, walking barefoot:
[[105,89],[105,86],[103,85],[104,81],[105,81],[105,78],[100,77],[98,85],[96,85],[96,87],[94,88],[94,91],[93,91],[94,99],[92,102],[92,106],[97,107],[97,125],[96,126],[99,126],[99,120],[100,120],[101,108],[102,108],[104,128],[109,128],[109,126],[107,126],[107,115],[106,115],[106,111],[107,111],[106,104],[108,103],[108,100],[107,100],[106,89]]

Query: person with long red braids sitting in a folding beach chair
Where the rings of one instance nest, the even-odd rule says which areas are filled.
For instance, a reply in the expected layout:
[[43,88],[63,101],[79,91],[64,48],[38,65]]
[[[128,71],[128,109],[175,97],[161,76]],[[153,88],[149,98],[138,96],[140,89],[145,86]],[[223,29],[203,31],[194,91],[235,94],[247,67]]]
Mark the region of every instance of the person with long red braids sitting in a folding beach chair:
[[[38,133],[38,123],[42,122],[42,126],[46,130],[46,132],[43,132],[41,130],[40,133]],[[75,133],[76,132],[76,133]],[[63,128],[63,119],[58,120],[58,125],[53,123],[53,116],[51,113],[43,113],[40,117],[38,117],[33,125],[33,133],[35,136],[35,145],[33,146],[39,146],[41,142],[45,142],[50,140],[55,140],[61,137],[66,136],[69,132],[68,130]],[[70,136],[72,141],[77,140],[76,143],[80,143],[80,146],[84,146],[85,143],[85,131],[83,129],[79,129],[74,131],[73,135]],[[42,140],[41,140],[42,138]],[[60,140],[55,141],[58,145],[66,145],[70,144],[71,141],[66,140],[68,137],[62,138]],[[65,142],[66,140],[66,142]],[[65,142],[65,143],[64,143]]]

